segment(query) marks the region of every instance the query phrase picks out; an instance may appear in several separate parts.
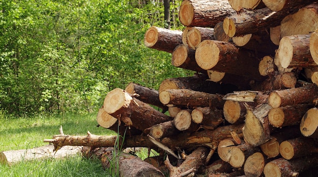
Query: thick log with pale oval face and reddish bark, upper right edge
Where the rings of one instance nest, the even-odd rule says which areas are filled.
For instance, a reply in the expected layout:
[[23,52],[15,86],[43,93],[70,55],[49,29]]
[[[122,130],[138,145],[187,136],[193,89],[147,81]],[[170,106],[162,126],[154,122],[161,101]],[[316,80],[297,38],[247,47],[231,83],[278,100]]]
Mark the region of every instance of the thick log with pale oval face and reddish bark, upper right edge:
[[311,34],[285,36],[279,42],[275,57],[284,68],[317,66],[309,51]]

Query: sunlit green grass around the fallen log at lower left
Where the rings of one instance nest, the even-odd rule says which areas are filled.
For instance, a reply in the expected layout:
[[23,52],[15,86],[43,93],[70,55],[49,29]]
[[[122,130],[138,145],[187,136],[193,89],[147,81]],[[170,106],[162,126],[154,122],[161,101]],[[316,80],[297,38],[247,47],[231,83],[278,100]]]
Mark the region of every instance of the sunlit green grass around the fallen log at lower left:
[[[63,132],[70,135],[97,135],[115,132],[97,127],[96,114],[64,115],[35,118],[0,116],[0,151],[31,149],[47,145],[43,139]],[[24,161],[12,166],[0,165],[0,176],[108,176],[98,159],[84,159],[80,155],[66,159]]]

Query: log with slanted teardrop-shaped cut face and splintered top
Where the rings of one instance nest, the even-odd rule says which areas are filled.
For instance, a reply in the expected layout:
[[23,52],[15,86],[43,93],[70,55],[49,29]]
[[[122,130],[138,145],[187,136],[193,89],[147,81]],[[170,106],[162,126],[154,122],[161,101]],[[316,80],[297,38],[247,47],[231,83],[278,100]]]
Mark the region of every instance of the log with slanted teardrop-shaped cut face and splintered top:
[[261,104],[254,110],[246,108],[245,125],[242,131],[247,143],[260,146],[269,140],[273,130],[267,116],[270,109],[267,103]]

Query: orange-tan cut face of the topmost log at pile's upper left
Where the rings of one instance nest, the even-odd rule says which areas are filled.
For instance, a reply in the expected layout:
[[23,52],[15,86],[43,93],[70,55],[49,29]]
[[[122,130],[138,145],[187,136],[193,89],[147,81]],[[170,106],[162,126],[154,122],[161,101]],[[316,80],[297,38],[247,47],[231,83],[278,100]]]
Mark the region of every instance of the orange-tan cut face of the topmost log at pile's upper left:
[[194,8],[190,1],[185,0],[181,3],[179,19],[184,26],[189,26],[194,18]]

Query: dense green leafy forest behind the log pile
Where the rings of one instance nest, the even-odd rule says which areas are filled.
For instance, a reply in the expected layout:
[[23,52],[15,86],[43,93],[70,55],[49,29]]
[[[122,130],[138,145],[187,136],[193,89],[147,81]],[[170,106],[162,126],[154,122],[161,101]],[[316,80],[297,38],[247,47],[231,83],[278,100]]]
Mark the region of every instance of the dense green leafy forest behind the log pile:
[[180,3],[1,1],[0,115],[97,114],[114,88],[191,75],[143,41],[150,26],[183,29]]

